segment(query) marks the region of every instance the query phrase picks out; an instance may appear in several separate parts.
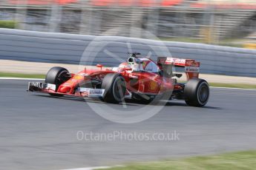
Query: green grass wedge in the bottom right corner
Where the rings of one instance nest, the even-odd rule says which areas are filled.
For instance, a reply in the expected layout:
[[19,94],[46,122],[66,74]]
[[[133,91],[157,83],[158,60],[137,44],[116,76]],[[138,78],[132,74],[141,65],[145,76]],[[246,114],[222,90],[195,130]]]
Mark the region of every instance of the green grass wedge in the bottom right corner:
[[240,170],[255,169],[256,151],[233,152],[212,156],[188,157],[175,160],[163,160],[149,163],[131,163],[126,166],[116,166],[107,170]]

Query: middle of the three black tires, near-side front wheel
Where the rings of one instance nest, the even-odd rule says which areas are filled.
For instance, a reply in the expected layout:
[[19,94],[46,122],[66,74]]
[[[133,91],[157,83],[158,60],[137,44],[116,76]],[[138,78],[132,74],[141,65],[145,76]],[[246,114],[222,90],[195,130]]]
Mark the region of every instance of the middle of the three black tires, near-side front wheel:
[[105,89],[102,98],[108,103],[120,103],[125,100],[125,78],[117,73],[105,75],[102,81],[102,89]]

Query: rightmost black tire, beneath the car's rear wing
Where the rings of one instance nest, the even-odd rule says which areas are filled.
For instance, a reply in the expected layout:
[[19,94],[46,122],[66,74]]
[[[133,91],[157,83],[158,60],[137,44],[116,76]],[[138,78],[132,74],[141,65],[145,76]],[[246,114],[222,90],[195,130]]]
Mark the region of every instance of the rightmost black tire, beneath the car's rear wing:
[[205,106],[209,95],[209,84],[205,80],[191,79],[186,83],[184,97],[188,106]]

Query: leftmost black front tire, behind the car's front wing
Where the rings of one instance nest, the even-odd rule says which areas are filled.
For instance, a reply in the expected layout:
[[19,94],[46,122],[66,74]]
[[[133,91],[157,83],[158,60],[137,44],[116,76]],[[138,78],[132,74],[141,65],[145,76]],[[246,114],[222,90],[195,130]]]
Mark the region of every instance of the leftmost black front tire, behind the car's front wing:
[[[46,74],[45,83],[48,84],[55,84],[56,85],[56,92],[59,89],[59,86],[63,84],[65,81],[68,81],[68,69],[63,67],[52,67]],[[49,93],[53,96],[62,96],[59,94]]]

